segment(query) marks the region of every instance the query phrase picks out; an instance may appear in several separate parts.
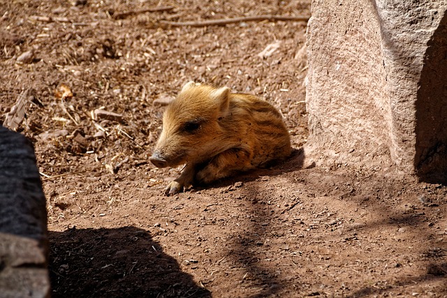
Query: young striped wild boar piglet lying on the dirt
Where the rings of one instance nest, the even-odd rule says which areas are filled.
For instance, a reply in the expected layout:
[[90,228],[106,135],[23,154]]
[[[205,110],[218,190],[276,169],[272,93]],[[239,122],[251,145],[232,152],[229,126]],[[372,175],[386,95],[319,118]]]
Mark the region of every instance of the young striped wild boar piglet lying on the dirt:
[[265,100],[189,82],[163,114],[149,160],[156,167],[186,163],[166,194],[282,161],[291,142],[281,114]]

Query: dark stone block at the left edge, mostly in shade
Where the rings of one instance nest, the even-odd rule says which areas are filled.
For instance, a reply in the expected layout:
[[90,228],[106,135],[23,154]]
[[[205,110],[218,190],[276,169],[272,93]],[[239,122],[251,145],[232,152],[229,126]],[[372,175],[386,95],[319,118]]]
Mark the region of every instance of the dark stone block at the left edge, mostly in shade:
[[0,126],[0,297],[49,297],[45,197],[31,143]]

